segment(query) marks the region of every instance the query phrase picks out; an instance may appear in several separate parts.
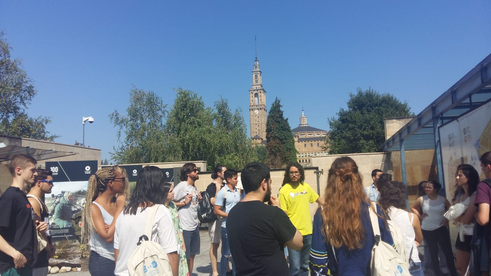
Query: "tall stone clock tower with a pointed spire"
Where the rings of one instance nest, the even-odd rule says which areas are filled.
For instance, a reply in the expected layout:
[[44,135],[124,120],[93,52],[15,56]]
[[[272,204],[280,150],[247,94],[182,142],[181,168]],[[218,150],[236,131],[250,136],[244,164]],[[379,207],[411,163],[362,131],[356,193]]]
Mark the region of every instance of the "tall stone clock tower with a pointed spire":
[[249,89],[250,138],[253,143],[266,142],[266,91],[261,82],[259,61],[254,60],[252,88]]

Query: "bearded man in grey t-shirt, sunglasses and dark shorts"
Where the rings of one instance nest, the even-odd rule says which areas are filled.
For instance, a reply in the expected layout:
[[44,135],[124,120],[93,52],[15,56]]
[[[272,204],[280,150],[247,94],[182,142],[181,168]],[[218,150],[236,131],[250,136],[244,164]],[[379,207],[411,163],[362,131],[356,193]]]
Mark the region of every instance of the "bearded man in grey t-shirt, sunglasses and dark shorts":
[[174,201],[178,208],[177,213],[183,227],[184,245],[186,246],[186,259],[188,260],[189,275],[192,272],[194,257],[199,254],[199,228],[198,228],[198,202],[203,199],[194,186],[199,179],[199,169],[193,163],[186,163],[181,167],[179,179],[181,182],[174,188]]

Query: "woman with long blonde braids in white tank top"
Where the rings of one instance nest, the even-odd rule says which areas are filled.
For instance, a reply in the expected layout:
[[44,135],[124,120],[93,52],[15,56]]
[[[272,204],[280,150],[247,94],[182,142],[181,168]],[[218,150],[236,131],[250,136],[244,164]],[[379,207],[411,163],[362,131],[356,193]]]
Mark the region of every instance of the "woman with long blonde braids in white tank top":
[[82,210],[82,243],[90,246],[91,276],[114,275],[114,230],[123,211],[126,179],[117,170],[101,168],[92,174],[87,185]]

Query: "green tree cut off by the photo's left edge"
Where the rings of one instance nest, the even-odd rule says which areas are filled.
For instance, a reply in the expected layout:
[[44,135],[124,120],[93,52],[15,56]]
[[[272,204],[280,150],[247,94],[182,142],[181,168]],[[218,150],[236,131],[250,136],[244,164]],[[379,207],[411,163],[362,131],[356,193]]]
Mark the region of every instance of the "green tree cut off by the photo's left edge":
[[7,39],[0,32],[0,134],[53,141],[59,136],[50,135],[46,125],[49,117],[30,118],[27,105],[37,94],[33,82],[22,69],[22,61],[11,59]]

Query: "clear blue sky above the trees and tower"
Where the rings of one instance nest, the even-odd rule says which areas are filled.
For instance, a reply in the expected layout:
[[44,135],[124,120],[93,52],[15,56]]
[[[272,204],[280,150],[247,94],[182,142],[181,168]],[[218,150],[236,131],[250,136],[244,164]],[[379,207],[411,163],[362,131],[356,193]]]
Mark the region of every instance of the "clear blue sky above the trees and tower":
[[0,29],[50,116],[55,141],[117,145],[109,113],[131,85],[172,105],[181,86],[248,116],[257,55],[267,106],[280,98],[290,126],[311,126],[372,87],[419,113],[491,53],[491,1],[1,1]]

